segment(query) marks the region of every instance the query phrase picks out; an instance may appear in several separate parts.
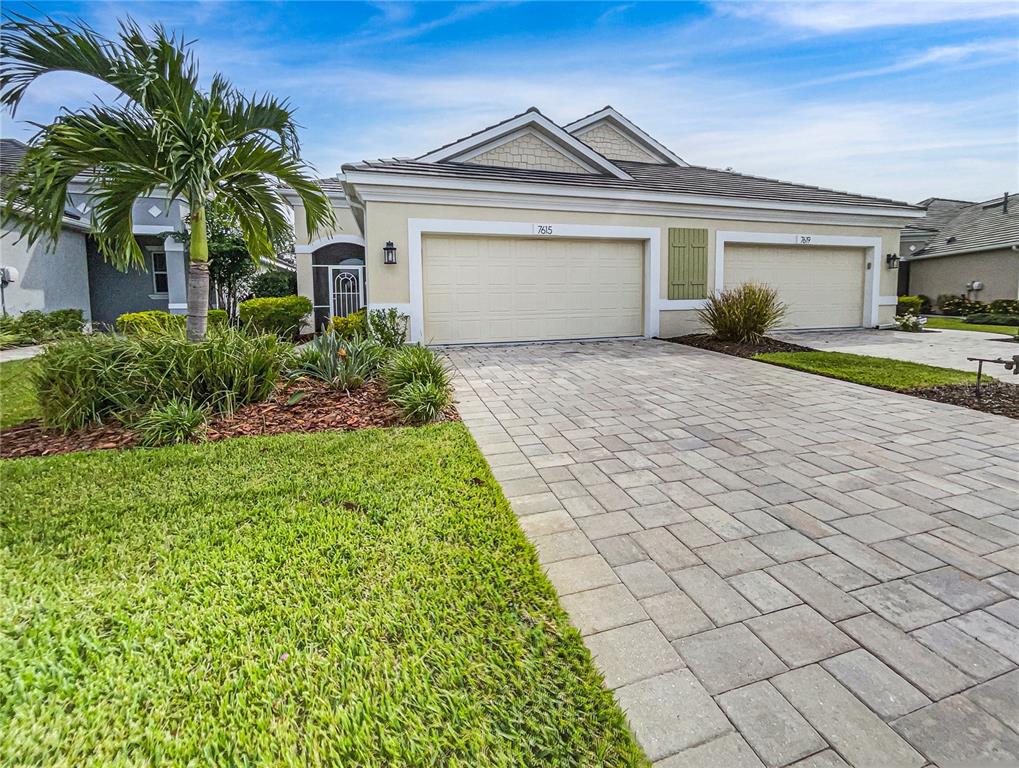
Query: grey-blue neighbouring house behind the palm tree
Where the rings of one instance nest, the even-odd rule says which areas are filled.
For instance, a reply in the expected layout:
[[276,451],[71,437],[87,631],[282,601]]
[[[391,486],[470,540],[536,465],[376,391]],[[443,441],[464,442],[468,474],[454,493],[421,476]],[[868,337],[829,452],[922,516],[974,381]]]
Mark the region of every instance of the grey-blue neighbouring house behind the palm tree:
[[[21,142],[0,139],[0,175],[13,172],[25,149]],[[87,320],[112,324],[125,312],[186,312],[184,246],[166,236],[181,228],[187,213],[183,203],[167,204],[166,197],[158,195],[136,201],[133,229],[145,252],[145,267],[121,272],[102,258],[89,236],[88,179],[72,181],[55,249],[45,241],[29,248],[24,240],[18,241],[15,230],[0,233],[0,264],[19,273],[17,282],[5,290],[8,313],[79,309]]]

